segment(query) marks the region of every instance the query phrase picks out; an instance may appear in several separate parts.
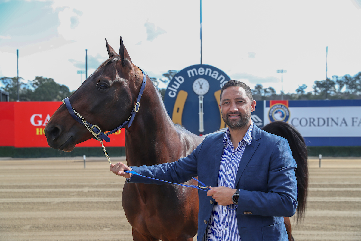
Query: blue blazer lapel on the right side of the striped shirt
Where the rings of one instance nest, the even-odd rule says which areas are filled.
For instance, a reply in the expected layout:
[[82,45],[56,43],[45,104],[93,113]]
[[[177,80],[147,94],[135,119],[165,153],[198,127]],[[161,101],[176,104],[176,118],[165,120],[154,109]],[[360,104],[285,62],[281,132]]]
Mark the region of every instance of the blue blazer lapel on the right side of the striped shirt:
[[242,159],[239,162],[239,167],[238,167],[238,171],[237,171],[236,179],[235,179],[235,188],[237,187],[239,179],[242,176],[244,168],[247,166],[247,164],[251,160],[258,145],[260,145],[260,143],[258,142],[258,139],[261,138],[261,130],[254,124],[253,124],[253,129],[252,129],[251,135],[252,135],[251,145],[246,144],[246,147],[245,147],[243,155],[242,155]]

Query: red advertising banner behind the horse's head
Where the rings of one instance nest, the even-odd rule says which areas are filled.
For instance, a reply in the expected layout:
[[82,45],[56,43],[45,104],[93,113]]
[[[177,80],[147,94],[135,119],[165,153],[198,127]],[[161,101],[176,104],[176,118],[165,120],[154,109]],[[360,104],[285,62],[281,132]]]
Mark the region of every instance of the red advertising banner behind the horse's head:
[[[6,135],[0,138],[0,146],[49,147],[44,134],[45,125],[61,102],[0,102],[0,126]],[[69,118],[71,116],[69,115]],[[86,128],[84,126],[84,128]],[[109,135],[105,146],[125,146],[124,130]],[[95,139],[79,143],[76,147],[99,147]]]

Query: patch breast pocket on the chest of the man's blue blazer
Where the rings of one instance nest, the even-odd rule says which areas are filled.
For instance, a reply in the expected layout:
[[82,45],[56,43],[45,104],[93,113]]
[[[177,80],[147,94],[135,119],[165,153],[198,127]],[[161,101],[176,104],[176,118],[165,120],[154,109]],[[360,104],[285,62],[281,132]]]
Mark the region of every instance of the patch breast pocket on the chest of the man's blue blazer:
[[248,166],[244,169],[244,185],[248,191],[265,191],[267,176],[265,166]]

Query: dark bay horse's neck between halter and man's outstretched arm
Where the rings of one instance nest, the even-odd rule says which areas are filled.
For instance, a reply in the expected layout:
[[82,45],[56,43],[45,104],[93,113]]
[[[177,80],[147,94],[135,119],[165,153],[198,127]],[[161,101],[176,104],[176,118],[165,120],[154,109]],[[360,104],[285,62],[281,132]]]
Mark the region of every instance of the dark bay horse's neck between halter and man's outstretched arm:
[[128,165],[153,165],[178,159],[179,150],[184,146],[157,91],[153,86],[151,88],[144,91],[140,111],[131,127],[126,129]]

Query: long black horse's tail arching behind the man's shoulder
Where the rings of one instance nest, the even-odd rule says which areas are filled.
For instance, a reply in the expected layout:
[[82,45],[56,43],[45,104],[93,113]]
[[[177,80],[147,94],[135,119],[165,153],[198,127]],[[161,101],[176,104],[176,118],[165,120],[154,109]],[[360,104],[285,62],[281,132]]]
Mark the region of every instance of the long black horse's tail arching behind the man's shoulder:
[[308,163],[306,143],[297,129],[287,122],[274,121],[265,125],[262,129],[271,134],[286,138],[290,145],[293,159],[297,163],[295,174],[297,180],[298,222],[299,219],[304,218],[307,203]]

